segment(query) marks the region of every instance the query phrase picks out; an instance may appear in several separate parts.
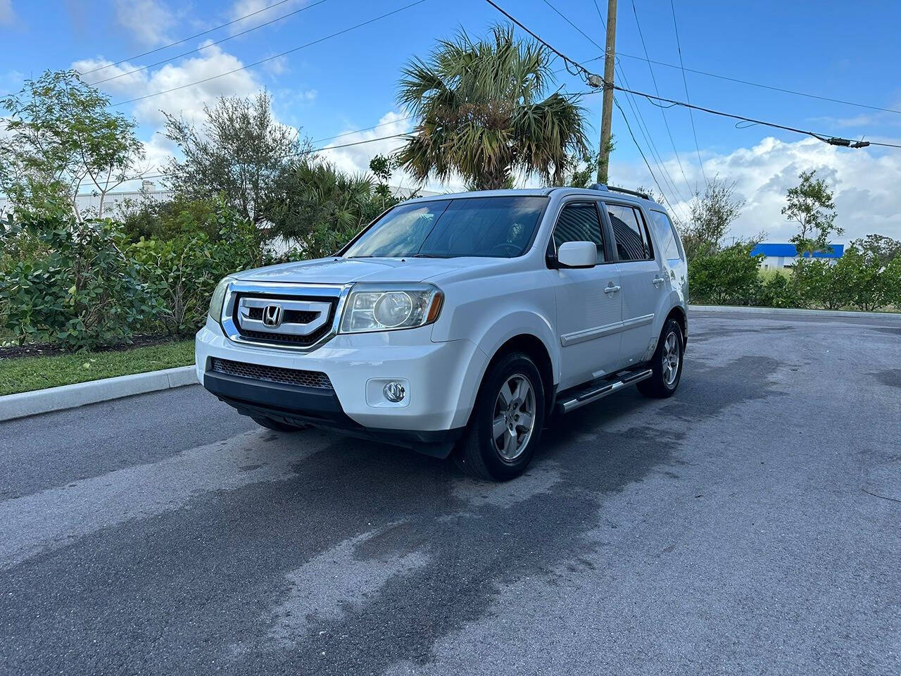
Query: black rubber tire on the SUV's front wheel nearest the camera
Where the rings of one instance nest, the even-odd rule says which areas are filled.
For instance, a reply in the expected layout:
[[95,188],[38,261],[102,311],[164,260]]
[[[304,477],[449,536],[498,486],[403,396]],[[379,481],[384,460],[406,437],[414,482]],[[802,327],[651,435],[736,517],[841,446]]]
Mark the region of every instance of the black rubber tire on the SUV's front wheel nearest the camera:
[[[513,397],[513,394],[516,391],[515,385],[522,382],[520,379],[528,382],[529,389],[521,390],[526,392],[525,400],[517,406],[516,401],[522,397]],[[510,407],[500,407],[502,388],[506,388],[505,397],[510,398]],[[544,426],[544,407],[542,374],[535,362],[524,352],[505,354],[488,369],[482,379],[466,434],[454,450],[453,457],[457,466],[478,479],[506,481],[518,477],[528,467],[538,447]],[[496,416],[498,410],[501,411],[500,416]],[[531,429],[526,435],[522,422],[526,419],[524,414],[528,410],[532,410],[533,414]],[[506,430],[497,437],[501,443],[492,434],[496,430],[496,422],[514,426],[516,436],[511,434],[513,441],[509,448],[500,448],[507,441]],[[520,442],[522,436],[525,439]],[[522,445],[518,445],[519,443]],[[512,457],[505,458],[505,452]]]

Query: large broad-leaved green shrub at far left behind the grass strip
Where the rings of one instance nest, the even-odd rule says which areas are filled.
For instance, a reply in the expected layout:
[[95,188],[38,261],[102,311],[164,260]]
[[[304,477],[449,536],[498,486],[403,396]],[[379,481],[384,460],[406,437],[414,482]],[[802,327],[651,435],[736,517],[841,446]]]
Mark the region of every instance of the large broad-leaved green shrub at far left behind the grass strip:
[[46,338],[69,350],[92,350],[127,342],[132,327],[152,314],[120,225],[57,215],[7,226],[0,236],[4,244],[23,237],[41,243],[34,255],[0,270],[5,328],[19,343]]

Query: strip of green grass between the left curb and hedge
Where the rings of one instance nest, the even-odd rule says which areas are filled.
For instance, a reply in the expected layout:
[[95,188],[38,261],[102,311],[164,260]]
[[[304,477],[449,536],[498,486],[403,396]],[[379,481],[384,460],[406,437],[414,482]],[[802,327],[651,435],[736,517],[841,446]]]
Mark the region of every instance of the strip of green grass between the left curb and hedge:
[[0,396],[194,363],[194,341],[0,360]]

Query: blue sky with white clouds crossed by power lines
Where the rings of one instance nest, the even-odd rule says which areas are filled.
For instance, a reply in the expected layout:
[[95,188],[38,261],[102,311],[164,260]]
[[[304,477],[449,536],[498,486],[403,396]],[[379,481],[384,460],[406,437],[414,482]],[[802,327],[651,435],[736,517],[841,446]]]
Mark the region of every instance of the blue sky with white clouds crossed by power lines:
[[[12,91],[21,86],[23,78],[37,76],[46,68],[75,65],[84,70],[130,58],[275,2],[0,0],[0,38],[4,45],[0,90]],[[114,103],[152,94],[292,50],[410,2],[325,0],[259,30],[99,87],[110,94]],[[587,61],[598,56],[599,50],[543,0],[503,0],[499,4],[570,57]],[[551,4],[594,41],[603,44],[604,32],[594,0],[558,0]],[[749,5],[675,0],[674,4],[682,55],[689,69],[901,110],[901,81],[895,72],[901,4],[859,3],[853,6],[853,14],[849,14],[849,5],[837,2],[783,0]],[[205,41],[221,40],[305,5],[314,5],[314,0],[288,0],[246,22],[168,50],[131,58],[122,67],[98,71],[85,79],[99,79],[101,74],[110,77],[168,59],[196,49]],[[604,0],[598,5],[606,14]],[[651,59],[678,64],[669,0],[636,0],[634,6]],[[398,73],[405,61],[414,55],[426,55],[436,39],[450,37],[461,27],[478,35],[501,19],[484,0],[425,0],[265,65],[119,109],[134,115],[141,124],[149,162],[164,160],[171,151],[157,133],[161,126],[160,107],[190,117],[198,113],[203,103],[213,102],[215,96],[250,95],[260,87],[266,87],[273,95],[279,121],[302,127],[305,135],[314,140],[378,123],[389,124],[332,143],[404,132],[409,122],[397,121],[405,113],[397,108],[395,94]],[[655,84],[648,64],[626,56],[641,57],[644,53],[631,2],[620,3],[617,50],[622,55],[620,68],[629,85],[653,93]],[[587,65],[597,72],[603,68],[601,60]],[[661,96],[685,99],[678,69],[653,69]],[[560,84],[571,92],[587,88],[565,72]],[[898,142],[901,138],[901,114],[749,87],[695,73],[687,74],[687,86],[697,105],[817,132],[863,136],[872,141]],[[587,96],[583,100],[588,119],[596,127],[600,98]],[[847,231],[839,241],[869,232],[901,237],[901,197],[895,195],[901,181],[901,151],[835,149],[761,126],[739,129],[734,121],[704,113],[695,114],[696,150],[687,111],[666,112],[668,132],[660,109],[639,101],[635,105],[660,157],[658,165],[628,102],[621,97],[621,103],[677,213],[685,212],[687,198],[696,187],[704,185],[698,167],[699,151],[705,174],[736,181],[747,201],[745,212],[735,225],[736,235],[764,230],[771,239],[787,238],[792,228],[778,214],[785,188],[796,180],[800,169],[817,167],[837,191],[840,223]],[[592,135],[596,136],[596,130]],[[630,187],[651,186],[651,177],[619,114],[614,114],[614,135],[611,182]],[[389,151],[394,143],[373,142],[331,151],[328,156],[344,169],[365,169],[372,154]]]

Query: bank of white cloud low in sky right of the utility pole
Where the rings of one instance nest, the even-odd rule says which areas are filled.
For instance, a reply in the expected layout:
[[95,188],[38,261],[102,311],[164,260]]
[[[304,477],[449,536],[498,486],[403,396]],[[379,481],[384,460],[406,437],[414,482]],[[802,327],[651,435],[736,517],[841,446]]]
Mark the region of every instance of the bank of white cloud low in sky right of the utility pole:
[[[707,177],[719,175],[735,181],[736,192],[745,200],[731,235],[749,237],[765,231],[770,241],[787,241],[796,229],[780,213],[786,190],[797,185],[799,172],[817,169],[835,191],[836,224],[845,230],[836,242],[850,242],[869,233],[901,239],[901,193],[897,190],[901,185],[901,153],[836,148],[815,139],[783,142],[768,137],[751,148],[704,154]],[[611,183],[652,187],[651,177],[640,162],[618,162],[614,153]],[[681,179],[675,160],[667,160],[665,165],[674,180]],[[690,183],[697,181],[703,186],[696,163],[683,158],[682,166]],[[684,181],[678,186],[687,192]],[[674,206],[677,213],[687,211],[685,204],[677,202]]]

